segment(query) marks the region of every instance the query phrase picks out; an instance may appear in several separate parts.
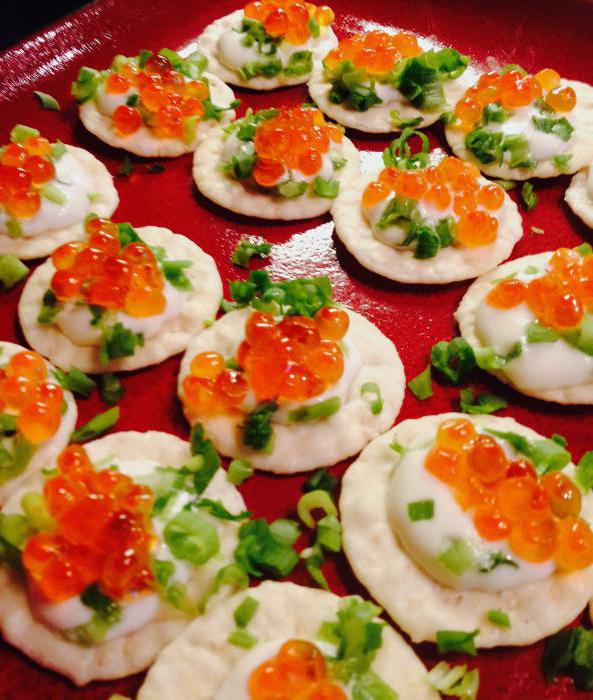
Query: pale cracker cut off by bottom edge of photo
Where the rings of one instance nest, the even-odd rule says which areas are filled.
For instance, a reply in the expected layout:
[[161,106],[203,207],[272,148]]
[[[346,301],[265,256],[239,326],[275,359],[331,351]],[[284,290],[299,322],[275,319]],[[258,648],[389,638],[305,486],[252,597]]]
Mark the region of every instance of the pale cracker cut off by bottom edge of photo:
[[[212,700],[235,664],[247,654],[228,642],[235,628],[233,612],[247,593],[238,593],[193,622],[159,656],[140,688],[138,700]],[[258,642],[315,640],[323,622],[332,621],[344,598],[294,583],[266,581],[249,589],[259,607],[249,622]],[[372,670],[400,700],[438,700],[426,681],[426,669],[406,642],[389,626]],[[200,679],[196,683],[196,678]]]

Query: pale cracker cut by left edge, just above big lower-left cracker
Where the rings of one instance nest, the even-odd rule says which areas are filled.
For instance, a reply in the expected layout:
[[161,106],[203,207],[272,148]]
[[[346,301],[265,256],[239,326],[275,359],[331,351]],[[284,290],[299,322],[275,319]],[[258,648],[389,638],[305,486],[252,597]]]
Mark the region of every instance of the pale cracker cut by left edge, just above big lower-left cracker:
[[[4,362],[13,355],[16,355],[17,352],[26,351],[27,348],[24,348],[22,345],[16,345],[16,343],[0,341],[0,350],[2,352],[0,360]],[[45,364],[48,370],[48,379],[52,380],[54,367],[47,362],[47,360]],[[38,474],[42,469],[53,466],[55,458],[70,442],[70,435],[76,425],[78,409],[72,393],[65,389],[63,391],[67,410],[62,415],[60,427],[49,440],[46,440],[37,448],[31,457],[31,461],[21,474],[15,476],[13,479],[9,479],[3,484],[0,483],[0,506],[8,500],[12,493],[21,487],[23,482],[30,479],[31,475]]]

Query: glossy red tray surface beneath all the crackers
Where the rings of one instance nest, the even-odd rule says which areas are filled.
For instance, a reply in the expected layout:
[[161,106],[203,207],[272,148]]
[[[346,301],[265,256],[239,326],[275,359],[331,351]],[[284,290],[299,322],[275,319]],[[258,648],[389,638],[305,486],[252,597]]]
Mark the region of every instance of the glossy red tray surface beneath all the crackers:
[[[85,132],[76,118],[76,107],[68,97],[69,84],[83,64],[106,66],[115,53],[133,55],[141,48],[179,48],[217,16],[235,9],[238,3],[179,3],[174,0],[105,0],[94,3],[61,23],[0,55],[0,140],[5,141],[15,122],[43,130],[44,135],[87,148],[116,173],[123,157]],[[586,0],[562,3],[498,0],[478,3],[472,0],[416,0],[394,5],[386,0],[341,0],[332,4],[339,33],[360,27],[364,11],[368,19],[422,34],[434,34],[483,61],[494,55],[503,62],[518,62],[529,70],[552,66],[569,78],[593,82],[591,71],[591,27],[593,5]],[[62,112],[42,111],[32,90],[54,95]],[[238,91],[243,106],[296,104],[307,98],[304,87],[281,90],[269,95]],[[440,127],[429,130],[433,144],[444,146]],[[351,134],[356,144],[371,151],[381,150],[387,139]],[[327,274],[334,284],[336,298],[360,311],[391,337],[401,354],[408,377],[424,368],[432,344],[455,333],[452,313],[468,284],[438,287],[402,286],[385,281],[362,269],[332,236],[327,218],[312,222],[274,224],[246,221],[223,211],[200,197],[191,180],[191,158],[164,161],[165,171],[148,174],[138,161],[135,174],[118,178],[121,204],[114,218],[131,220],[142,226],[156,224],[184,233],[216,258],[223,278],[242,274],[229,264],[230,254],[245,234],[264,235],[275,243],[268,269],[275,277],[295,274]],[[591,232],[574,217],[562,200],[568,178],[536,183],[539,204],[524,216],[525,236],[514,256],[548,250],[559,245],[577,245]],[[545,230],[535,235],[531,226]],[[4,340],[22,342],[16,305],[20,286],[0,299],[0,335]],[[175,396],[179,358],[159,367],[126,375],[126,396],[121,402],[121,430],[168,430],[187,435],[187,426]],[[561,408],[529,400],[482,376],[475,386],[503,394],[511,403],[506,411],[541,432],[564,434],[575,457],[591,445],[591,411]],[[450,410],[456,406],[458,391],[437,386],[435,396],[419,402],[409,393],[401,418]],[[80,420],[101,408],[96,397],[81,401]],[[589,433],[589,435],[587,435]],[[334,471],[342,474],[345,465]],[[268,518],[286,516],[295,506],[304,477],[256,476],[242,488],[250,510]],[[362,589],[352,579],[347,562],[337,558],[327,566],[328,578],[337,592]],[[299,573],[295,580],[307,583]],[[394,585],[397,585],[394,582]],[[586,697],[576,693],[569,680],[546,687],[541,678],[541,644],[522,649],[481,652],[475,663],[481,672],[479,697],[482,700],[537,698],[561,700]],[[418,648],[432,664],[432,645]],[[199,682],[199,679],[197,679]],[[92,684],[75,689],[57,675],[14,651],[0,646],[0,697],[6,700],[106,699],[112,692],[131,695],[141,677],[110,684]],[[590,696],[590,694],[589,694]]]

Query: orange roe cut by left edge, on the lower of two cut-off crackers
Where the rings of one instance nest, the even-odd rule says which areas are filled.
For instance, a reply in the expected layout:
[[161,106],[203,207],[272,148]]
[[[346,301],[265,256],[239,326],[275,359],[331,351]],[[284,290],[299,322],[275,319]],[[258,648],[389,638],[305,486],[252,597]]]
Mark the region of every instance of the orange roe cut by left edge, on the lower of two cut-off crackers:
[[34,445],[56,434],[64,393],[47,381],[47,367],[36,352],[17,352],[0,369],[0,412],[17,417],[18,432]]

